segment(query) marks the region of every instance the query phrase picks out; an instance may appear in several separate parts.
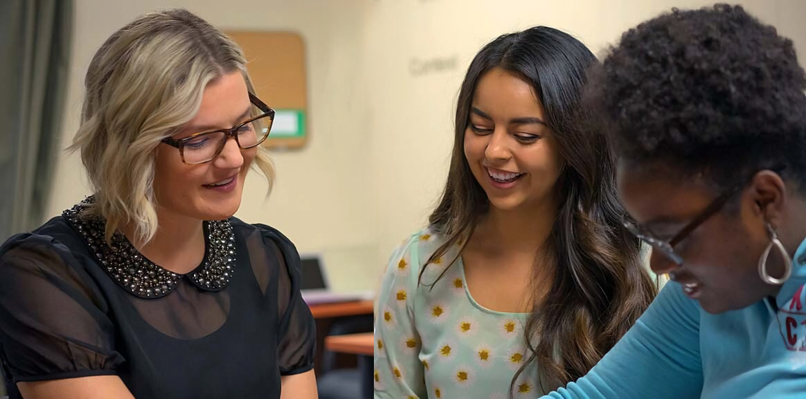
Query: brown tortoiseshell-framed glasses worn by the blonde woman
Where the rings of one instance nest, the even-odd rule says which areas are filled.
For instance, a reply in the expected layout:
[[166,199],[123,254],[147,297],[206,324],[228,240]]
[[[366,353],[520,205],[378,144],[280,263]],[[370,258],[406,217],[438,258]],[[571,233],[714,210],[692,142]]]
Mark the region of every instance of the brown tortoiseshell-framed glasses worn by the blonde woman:
[[249,102],[257,110],[252,114],[257,114],[238,126],[231,129],[221,129],[217,131],[202,131],[194,135],[189,135],[184,139],[174,139],[167,137],[162,139],[163,143],[171,147],[178,148],[185,164],[204,164],[214,160],[222,152],[226,145],[226,140],[232,137],[239,148],[253,148],[268,137],[274,122],[274,110],[260,101],[254,94],[249,94]]

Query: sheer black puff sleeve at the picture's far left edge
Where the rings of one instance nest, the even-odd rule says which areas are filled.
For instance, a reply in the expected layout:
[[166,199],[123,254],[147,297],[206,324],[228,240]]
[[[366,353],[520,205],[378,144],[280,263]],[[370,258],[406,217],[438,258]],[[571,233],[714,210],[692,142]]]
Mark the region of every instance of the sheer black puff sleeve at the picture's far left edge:
[[114,375],[123,363],[89,262],[48,235],[15,235],[0,247],[0,360],[9,384]]

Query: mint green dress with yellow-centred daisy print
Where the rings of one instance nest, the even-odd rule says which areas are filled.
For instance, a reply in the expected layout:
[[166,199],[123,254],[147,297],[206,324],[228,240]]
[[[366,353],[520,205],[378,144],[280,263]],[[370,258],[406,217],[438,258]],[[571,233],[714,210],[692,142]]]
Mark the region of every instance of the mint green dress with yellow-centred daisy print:
[[[528,314],[496,312],[476,303],[456,248],[428,265],[418,285],[423,264],[441,244],[426,229],[389,261],[375,326],[375,397],[505,399],[526,360]],[[537,375],[537,365],[530,364],[516,381],[515,398],[542,394]]]

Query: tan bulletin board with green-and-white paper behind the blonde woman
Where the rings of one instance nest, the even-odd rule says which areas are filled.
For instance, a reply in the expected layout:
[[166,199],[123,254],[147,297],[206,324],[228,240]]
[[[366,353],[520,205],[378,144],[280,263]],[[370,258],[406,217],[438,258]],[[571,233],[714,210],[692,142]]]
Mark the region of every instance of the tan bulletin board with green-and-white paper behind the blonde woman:
[[308,141],[305,44],[287,31],[225,31],[243,48],[256,95],[275,111],[268,148],[302,148]]

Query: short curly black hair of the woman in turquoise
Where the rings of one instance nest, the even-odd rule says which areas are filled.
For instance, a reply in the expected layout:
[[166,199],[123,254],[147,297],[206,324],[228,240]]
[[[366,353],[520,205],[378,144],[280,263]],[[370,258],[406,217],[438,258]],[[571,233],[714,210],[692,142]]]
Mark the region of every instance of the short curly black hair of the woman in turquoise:
[[629,164],[717,187],[783,166],[806,187],[806,75],[791,40],[741,6],[673,9],[630,29],[590,89]]

